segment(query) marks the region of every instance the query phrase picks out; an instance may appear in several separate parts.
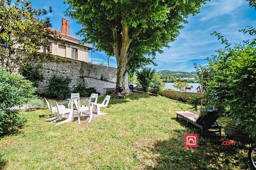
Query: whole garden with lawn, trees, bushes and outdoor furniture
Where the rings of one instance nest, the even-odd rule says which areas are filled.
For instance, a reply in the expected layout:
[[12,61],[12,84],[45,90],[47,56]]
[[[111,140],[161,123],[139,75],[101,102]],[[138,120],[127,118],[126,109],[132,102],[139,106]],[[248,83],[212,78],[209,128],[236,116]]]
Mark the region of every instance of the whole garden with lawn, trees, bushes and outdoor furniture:
[[[147,67],[157,66],[156,55],[206,1],[66,0],[66,15],[83,26],[81,42],[116,57],[116,88],[102,95],[84,79],[70,85],[70,77],[58,73],[39,94],[38,82],[45,79],[40,64],[65,60],[38,53],[50,51],[48,37],[58,39],[50,19],[40,18],[52,8],[1,0],[0,169],[256,168],[255,28],[239,30],[251,39],[236,44],[212,33],[225,47],[207,57],[208,64],[194,65],[202,88],[186,102],[164,97],[161,76]],[[249,4],[256,7],[253,0]],[[185,81],[174,85],[180,93],[188,88]],[[82,111],[90,113],[89,121],[80,121]],[[187,135],[197,137],[196,144],[187,146]]]

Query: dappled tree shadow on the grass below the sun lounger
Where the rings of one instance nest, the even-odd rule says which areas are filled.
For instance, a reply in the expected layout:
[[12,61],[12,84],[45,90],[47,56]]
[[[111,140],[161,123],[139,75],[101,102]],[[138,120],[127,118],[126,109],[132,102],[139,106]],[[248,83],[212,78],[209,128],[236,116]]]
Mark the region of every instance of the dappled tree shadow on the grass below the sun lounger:
[[[183,121],[180,123],[186,126]],[[234,135],[236,145],[221,145],[223,138],[216,138],[214,142],[208,143],[198,134],[198,146],[185,149],[185,134],[198,132],[194,127],[189,128],[192,129],[174,130],[169,140],[155,142],[151,152],[158,155],[155,158],[157,163],[156,166],[146,167],[146,169],[249,169],[247,142],[244,142],[243,135],[236,133],[236,128],[233,133],[227,132],[229,135]]]

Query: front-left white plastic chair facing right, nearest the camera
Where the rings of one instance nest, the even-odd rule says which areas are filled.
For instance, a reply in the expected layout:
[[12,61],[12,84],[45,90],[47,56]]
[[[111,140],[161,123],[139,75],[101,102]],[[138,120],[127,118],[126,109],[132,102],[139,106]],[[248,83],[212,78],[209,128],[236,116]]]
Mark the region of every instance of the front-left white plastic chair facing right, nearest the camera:
[[62,119],[63,119],[63,115],[66,114],[66,113],[68,113],[68,118],[65,119],[64,121],[60,122],[60,123],[57,123],[57,124],[54,125],[54,126],[58,126],[58,125],[60,125],[60,124],[62,124],[62,123],[66,123],[66,122],[71,121],[72,115],[73,115],[73,109],[66,109],[66,108],[60,107],[60,106],[58,105],[57,101],[55,101],[55,100],[49,100],[49,103],[50,103],[50,105],[52,105],[52,106],[54,106],[54,107],[55,107],[55,106],[57,107],[58,114],[57,114],[55,120],[51,121],[51,122],[48,123],[48,124],[55,123],[55,122],[57,122],[57,121],[59,121],[59,120],[62,120]]

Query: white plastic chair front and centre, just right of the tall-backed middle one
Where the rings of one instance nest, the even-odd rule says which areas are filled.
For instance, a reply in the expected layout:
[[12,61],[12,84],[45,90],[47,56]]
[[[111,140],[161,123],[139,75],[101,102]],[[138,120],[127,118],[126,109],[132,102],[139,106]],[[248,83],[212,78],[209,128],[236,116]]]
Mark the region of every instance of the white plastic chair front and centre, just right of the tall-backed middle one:
[[93,118],[93,108],[91,106],[91,102],[90,100],[78,100],[78,107],[77,107],[77,111],[78,111],[78,124],[80,124],[80,116],[83,112],[89,111],[90,113],[90,118],[88,123],[91,122],[92,118]]

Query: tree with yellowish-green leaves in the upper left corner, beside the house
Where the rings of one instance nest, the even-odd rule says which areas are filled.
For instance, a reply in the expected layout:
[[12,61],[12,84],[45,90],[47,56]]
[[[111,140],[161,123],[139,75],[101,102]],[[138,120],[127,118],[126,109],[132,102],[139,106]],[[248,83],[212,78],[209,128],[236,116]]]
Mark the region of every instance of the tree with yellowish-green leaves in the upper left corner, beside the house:
[[8,72],[50,56],[38,51],[50,50],[48,38],[57,38],[49,18],[40,19],[51,11],[34,9],[29,0],[0,0],[0,64]]

